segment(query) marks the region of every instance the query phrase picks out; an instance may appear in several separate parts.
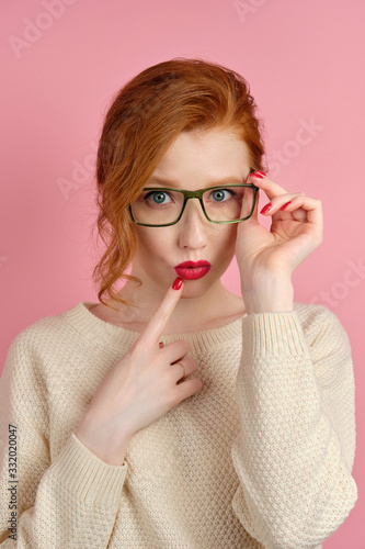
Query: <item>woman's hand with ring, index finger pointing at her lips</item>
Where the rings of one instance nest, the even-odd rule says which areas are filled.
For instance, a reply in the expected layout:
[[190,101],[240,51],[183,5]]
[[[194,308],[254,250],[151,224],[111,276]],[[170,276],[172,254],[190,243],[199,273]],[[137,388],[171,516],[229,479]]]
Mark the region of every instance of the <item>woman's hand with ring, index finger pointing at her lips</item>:
[[103,378],[75,435],[110,464],[122,464],[130,438],[202,389],[198,378],[178,381],[196,370],[184,358],[189,341],[160,348],[159,341],[181,294],[170,287],[145,330]]

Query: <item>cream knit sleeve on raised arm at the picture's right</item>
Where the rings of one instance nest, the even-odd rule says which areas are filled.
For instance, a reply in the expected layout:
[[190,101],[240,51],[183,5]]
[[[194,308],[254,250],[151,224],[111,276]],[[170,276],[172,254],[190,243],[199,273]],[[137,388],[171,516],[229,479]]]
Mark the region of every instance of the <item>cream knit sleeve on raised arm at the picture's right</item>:
[[321,305],[303,326],[296,311],[251,314],[242,323],[232,508],[265,548],[312,549],[357,500],[349,338]]

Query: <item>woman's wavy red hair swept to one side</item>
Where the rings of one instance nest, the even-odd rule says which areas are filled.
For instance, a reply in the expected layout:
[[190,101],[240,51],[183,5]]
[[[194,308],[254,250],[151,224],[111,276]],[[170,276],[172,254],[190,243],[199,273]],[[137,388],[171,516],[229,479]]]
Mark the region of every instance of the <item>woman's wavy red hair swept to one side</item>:
[[116,93],[96,157],[96,224],[106,247],[93,270],[101,303],[111,306],[103,300],[106,296],[132,305],[117,295],[115,284],[121,278],[141,284],[139,278],[125,273],[137,250],[128,205],[179,134],[232,128],[247,144],[251,168],[265,171],[261,125],[244,78],[198,58],[178,57],[153,65]]

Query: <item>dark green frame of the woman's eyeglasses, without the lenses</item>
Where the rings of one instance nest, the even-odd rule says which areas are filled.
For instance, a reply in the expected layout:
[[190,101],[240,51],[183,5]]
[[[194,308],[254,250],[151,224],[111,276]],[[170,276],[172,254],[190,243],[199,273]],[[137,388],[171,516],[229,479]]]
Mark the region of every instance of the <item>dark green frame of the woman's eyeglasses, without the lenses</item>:
[[[254,171],[255,170],[250,170],[250,173],[253,173]],[[253,190],[253,202],[252,202],[252,209],[251,209],[250,214],[247,215],[246,217],[242,217],[240,220],[233,220],[233,221],[213,221],[213,220],[210,220],[209,216],[208,216],[208,214],[206,213],[204,204],[203,204],[203,200],[202,200],[203,199],[203,194],[206,191],[210,191],[212,189],[226,189],[226,188],[231,188],[231,187],[249,187],[250,189]],[[184,195],[184,203],[183,203],[183,206],[182,206],[182,210],[180,212],[180,215],[179,215],[178,220],[174,221],[174,222],[172,222],[172,223],[166,223],[164,225],[151,225],[149,223],[139,223],[133,216],[130,204],[128,206],[132,220],[134,221],[134,223],[136,223],[136,225],[142,225],[145,227],[169,227],[170,225],[175,225],[181,220],[182,214],[184,213],[184,210],[185,210],[186,202],[187,202],[189,199],[198,199],[199,200],[203,213],[204,213],[205,217],[210,223],[227,224],[227,223],[240,223],[241,221],[246,221],[246,220],[250,219],[251,215],[253,214],[253,210],[254,210],[254,206],[255,206],[255,203],[256,203],[256,195],[258,195],[259,187],[256,187],[253,183],[237,183],[237,184],[233,183],[233,184],[223,184],[220,187],[217,187],[217,186],[216,187],[208,187],[206,189],[198,189],[196,191],[185,191],[185,190],[182,190],[182,189],[169,189],[167,187],[164,187],[163,189],[160,188],[160,187],[146,187],[144,189],[144,191],[174,191],[174,192],[181,192]]]

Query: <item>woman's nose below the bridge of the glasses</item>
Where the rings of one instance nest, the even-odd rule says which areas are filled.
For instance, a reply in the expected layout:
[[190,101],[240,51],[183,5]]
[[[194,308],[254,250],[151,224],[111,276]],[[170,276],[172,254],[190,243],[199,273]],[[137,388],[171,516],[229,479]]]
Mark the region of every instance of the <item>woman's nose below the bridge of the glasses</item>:
[[176,227],[180,228],[180,245],[201,248],[206,245],[206,229],[210,222],[205,217],[198,199],[189,199]]

